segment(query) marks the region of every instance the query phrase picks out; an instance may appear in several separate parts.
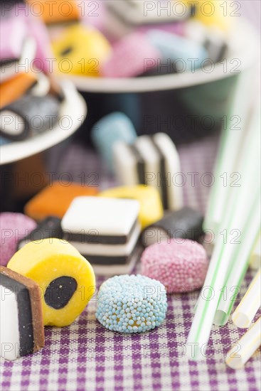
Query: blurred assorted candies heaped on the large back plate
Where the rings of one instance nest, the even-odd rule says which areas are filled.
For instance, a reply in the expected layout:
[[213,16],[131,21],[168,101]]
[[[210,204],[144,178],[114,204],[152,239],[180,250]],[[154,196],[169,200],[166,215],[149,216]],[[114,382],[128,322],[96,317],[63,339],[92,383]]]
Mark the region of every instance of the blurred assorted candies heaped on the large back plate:
[[[48,1],[38,3],[47,9]],[[59,9],[54,18],[43,14],[59,73],[137,77],[194,72],[220,62],[228,50],[231,18],[223,16],[216,1],[96,1],[93,12],[86,2],[73,3],[68,1],[73,7],[69,26],[53,26],[66,19]]]

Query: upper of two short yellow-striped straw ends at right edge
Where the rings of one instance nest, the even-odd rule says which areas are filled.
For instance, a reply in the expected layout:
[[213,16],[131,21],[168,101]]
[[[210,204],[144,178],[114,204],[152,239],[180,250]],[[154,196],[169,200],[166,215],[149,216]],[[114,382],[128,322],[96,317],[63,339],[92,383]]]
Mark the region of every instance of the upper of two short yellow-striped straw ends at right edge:
[[255,314],[261,306],[261,268],[252,280],[245,296],[232,315],[235,326],[247,328],[252,323]]

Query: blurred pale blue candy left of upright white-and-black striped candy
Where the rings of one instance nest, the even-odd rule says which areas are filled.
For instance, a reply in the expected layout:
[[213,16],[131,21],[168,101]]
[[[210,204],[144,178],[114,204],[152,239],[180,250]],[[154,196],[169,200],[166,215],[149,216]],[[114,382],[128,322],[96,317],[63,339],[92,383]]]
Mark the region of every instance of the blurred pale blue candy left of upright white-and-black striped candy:
[[137,139],[137,133],[130,119],[121,112],[108,114],[91,130],[92,142],[100,152],[106,166],[112,172],[113,153],[112,147],[115,141],[133,143]]

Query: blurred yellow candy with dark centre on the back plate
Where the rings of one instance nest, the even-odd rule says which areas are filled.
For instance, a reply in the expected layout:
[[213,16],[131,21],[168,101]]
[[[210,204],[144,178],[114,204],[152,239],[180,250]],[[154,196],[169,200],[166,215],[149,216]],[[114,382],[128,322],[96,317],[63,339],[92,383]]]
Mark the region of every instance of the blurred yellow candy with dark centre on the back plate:
[[100,76],[100,66],[112,51],[100,31],[80,23],[66,28],[52,47],[59,73],[90,77]]

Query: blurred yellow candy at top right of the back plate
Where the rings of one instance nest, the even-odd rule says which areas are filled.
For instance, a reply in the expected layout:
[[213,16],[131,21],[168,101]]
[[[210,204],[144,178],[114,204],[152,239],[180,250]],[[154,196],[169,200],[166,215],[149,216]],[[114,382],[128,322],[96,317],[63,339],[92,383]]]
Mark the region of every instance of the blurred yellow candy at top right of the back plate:
[[[193,5],[191,0],[183,0],[186,6]],[[233,14],[237,15],[236,9],[231,7],[231,1],[206,1],[195,0],[196,12],[194,18],[206,26],[220,28],[224,32],[228,32],[233,26]]]

